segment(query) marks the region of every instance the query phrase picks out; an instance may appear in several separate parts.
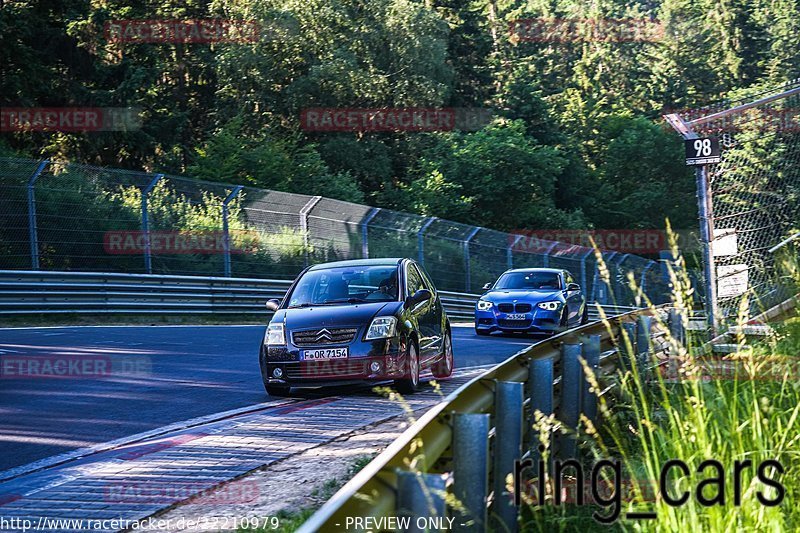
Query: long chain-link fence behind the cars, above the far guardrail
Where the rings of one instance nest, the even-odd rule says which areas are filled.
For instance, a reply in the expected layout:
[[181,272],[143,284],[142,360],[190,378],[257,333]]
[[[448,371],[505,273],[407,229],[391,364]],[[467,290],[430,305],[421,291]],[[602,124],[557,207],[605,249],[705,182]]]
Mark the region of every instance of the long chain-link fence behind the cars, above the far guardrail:
[[513,267],[568,269],[591,300],[656,302],[657,261],[319,196],[73,163],[0,159],[0,269],[292,279],[306,265],[412,257],[443,290],[477,292]]

